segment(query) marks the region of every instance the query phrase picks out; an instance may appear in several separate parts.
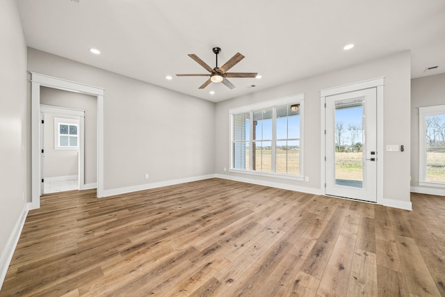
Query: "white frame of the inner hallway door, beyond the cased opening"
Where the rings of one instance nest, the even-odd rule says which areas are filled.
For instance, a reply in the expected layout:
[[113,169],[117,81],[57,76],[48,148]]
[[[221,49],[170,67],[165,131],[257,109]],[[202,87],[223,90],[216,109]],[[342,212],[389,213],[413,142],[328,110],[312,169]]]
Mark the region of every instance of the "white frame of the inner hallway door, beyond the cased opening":
[[[74,116],[79,120],[79,156],[77,158],[78,162],[78,180],[79,180],[79,190],[84,190],[85,185],[85,111],[80,109],[69,109],[66,107],[52,106],[40,104],[40,113],[42,116],[44,113],[53,113],[57,115],[69,115]],[[42,130],[40,130],[42,131]],[[43,134],[43,131],[41,132]],[[42,135],[42,141],[44,136]],[[44,149],[43,143],[40,144],[40,148]],[[43,160],[43,159],[42,159]],[[42,179],[44,164],[40,165],[40,179]],[[44,193],[42,187],[40,187],[40,193]]]

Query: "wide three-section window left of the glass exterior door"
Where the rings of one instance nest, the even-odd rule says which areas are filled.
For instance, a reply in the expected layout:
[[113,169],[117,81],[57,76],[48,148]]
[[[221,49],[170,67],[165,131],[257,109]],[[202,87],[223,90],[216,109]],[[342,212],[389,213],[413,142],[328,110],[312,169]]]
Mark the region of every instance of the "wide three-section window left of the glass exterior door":
[[231,110],[231,169],[300,177],[302,107],[297,95]]

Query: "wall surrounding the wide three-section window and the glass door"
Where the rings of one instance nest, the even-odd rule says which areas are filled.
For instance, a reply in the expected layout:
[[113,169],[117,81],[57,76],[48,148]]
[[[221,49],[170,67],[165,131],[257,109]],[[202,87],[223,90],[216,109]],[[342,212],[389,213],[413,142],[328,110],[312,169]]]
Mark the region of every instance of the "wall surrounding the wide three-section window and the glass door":
[[[282,86],[216,104],[216,174],[225,175],[225,177],[232,179],[249,178],[258,183],[277,183],[284,187],[301,188],[309,192],[324,193],[324,189],[321,188],[321,111],[319,91],[377,77],[385,77],[385,111],[382,119],[384,122],[384,145],[398,144],[405,146],[405,152],[379,152],[385,157],[385,163],[383,163],[385,179],[383,198],[400,201],[402,204],[410,202],[409,51],[322,74],[317,77],[285,83]],[[305,94],[304,175],[309,177],[309,182],[225,172],[223,168],[230,167],[229,109],[300,93]]]

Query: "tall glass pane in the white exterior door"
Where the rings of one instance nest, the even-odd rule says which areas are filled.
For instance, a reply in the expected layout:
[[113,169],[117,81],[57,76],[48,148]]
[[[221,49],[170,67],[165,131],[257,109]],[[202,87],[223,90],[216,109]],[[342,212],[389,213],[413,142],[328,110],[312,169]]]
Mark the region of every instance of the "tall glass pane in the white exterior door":
[[363,188],[363,103],[335,106],[335,183]]

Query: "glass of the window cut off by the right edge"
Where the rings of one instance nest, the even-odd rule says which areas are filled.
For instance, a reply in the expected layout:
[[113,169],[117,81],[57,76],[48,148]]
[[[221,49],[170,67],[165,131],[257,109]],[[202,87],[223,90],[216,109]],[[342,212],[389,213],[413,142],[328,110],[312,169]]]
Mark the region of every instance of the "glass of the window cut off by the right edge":
[[445,114],[425,118],[426,181],[445,182]]

